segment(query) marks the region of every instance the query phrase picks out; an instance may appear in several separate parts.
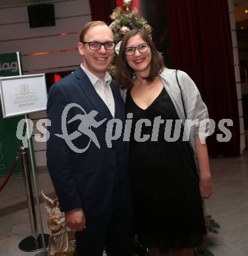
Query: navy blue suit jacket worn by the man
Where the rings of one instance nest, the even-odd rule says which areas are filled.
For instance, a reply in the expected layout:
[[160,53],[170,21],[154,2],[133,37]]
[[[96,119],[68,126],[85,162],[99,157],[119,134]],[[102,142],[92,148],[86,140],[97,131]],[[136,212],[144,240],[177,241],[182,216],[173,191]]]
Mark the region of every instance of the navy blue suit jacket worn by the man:
[[[124,102],[114,81],[111,81],[110,86],[115,99],[115,118],[121,119],[124,126]],[[69,103],[79,104],[87,114],[96,110],[96,121],[107,118],[102,125],[92,128],[100,149],[91,142],[88,150],[79,154],[71,150],[65,140],[56,136],[62,134],[62,112]],[[113,147],[107,147],[106,125],[113,116],[80,67],[73,74],[52,85],[48,94],[47,114],[51,121],[51,126],[48,127],[50,138],[46,149],[47,166],[61,210],[71,211],[82,207],[88,217],[100,215],[109,204],[116,175],[119,175],[120,179],[126,179],[127,142],[120,139],[118,142],[113,141]],[[77,114],[84,113],[80,108],[71,108],[67,121]],[[79,124],[80,120],[67,123],[68,133],[77,131]],[[72,142],[77,148],[82,149],[89,140],[88,136],[82,134]]]

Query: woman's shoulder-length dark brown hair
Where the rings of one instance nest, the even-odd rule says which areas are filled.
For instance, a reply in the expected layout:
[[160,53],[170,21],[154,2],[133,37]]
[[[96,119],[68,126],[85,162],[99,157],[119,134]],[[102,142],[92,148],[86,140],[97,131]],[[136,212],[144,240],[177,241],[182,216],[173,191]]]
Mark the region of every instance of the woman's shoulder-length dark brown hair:
[[125,89],[131,89],[133,86],[133,69],[130,68],[128,62],[126,61],[126,55],[124,54],[126,43],[128,40],[133,37],[134,35],[140,35],[141,38],[149,44],[151,49],[151,69],[149,75],[147,77],[143,77],[147,81],[153,81],[153,79],[162,72],[164,68],[164,61],[154,43],[152,42],[151,37],[144,32],[143,30],[131,30],[130,32],[126,33],[122,38],[122,43],[120,44],[120,51],[118,57],[116,58],[115,64],[115,78],[120,87]]

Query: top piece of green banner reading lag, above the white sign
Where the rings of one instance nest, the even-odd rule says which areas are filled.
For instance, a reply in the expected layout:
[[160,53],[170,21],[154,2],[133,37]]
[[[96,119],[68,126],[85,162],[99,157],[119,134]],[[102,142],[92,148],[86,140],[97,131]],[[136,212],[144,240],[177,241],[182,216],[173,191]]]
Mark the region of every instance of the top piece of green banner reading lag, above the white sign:
[[20,75],[18,53],[0,54],[0,77],[12,75]]

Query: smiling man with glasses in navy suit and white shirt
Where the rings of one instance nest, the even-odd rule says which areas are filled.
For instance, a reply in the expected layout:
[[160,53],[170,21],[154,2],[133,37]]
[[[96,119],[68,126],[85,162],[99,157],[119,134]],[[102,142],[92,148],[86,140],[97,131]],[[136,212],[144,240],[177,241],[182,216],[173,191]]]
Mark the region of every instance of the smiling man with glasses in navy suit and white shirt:
[[47,166],[79,256],[101,256],[103,247],[108,256],[132,255],[128,145],[122,136],[111,147],[105,141],[107,133],[115,134],[106,132],[109,120],[125,123],[124,102],[106,72],[114,49],[107,24],[86,24],[82,64],[48,95]]

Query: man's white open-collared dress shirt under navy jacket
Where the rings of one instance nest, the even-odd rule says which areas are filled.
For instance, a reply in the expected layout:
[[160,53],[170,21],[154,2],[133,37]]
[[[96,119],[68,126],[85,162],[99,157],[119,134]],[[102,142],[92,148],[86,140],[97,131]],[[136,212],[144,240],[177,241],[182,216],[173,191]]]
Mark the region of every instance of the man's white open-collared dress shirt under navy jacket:
[[111,75],[106,72],[104,80],[100,79],[96,75],[92,74],[89,70],[84,68],[83,64],[81,64],[82,70],[84,70],[85,74],[89,77],[92,85],[96,89],[97,94],[101,97],[103,102],[106,104],[107,108],[111,112],[111,115],[115,117],[115,100],[110,87],[111,83]]

